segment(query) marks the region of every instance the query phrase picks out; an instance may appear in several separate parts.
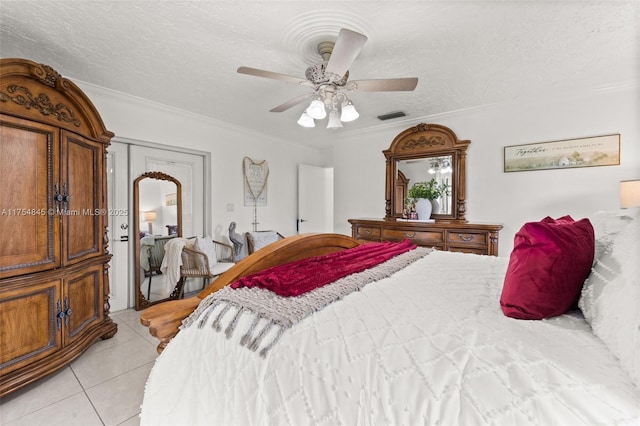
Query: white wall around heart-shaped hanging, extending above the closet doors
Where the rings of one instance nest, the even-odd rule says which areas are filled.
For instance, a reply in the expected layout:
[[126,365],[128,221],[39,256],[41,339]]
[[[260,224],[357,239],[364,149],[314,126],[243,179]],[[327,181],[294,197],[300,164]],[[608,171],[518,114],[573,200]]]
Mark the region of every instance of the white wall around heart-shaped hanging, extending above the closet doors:
[[[253,207],[243,202],[245,156],[269,164],[267,206],[258,207],[258,229],[276,229],[283,235],[296,233],[298,164],[330,162],[328,151],[300,147],[87,83],[78,85],[116,137],[211,153],[211,229],[223,241],[232,221],[238,223],[237,231],[252,230]],[[228,204],[234,205],[233,212],[227,211]]]

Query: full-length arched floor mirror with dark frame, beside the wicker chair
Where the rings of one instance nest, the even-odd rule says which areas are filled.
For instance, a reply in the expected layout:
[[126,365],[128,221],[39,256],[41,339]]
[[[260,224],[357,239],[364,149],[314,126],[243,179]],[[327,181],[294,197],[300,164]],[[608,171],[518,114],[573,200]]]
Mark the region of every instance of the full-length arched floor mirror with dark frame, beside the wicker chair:
[[133,183],[136,310],[177,297],[160,267],[164,244],[182,236],[182,186],[162,172],[147,172]]

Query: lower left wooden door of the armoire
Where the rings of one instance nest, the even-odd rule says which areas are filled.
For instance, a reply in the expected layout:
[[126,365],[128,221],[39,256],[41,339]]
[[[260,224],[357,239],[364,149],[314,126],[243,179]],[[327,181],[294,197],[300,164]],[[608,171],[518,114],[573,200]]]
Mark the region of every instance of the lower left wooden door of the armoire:
[[57,320],[60,280],[0,289],[0,376],[62,347]]

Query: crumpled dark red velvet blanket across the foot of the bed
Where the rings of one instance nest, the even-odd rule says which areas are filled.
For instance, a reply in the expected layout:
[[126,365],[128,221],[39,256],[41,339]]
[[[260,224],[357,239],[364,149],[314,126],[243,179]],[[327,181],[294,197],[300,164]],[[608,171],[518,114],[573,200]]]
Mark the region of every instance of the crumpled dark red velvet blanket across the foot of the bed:
[[409,240],[382,242],[274,266],[240,278],[231,288],[260,287],[280,296],[299,296],[347,275],[362,272],[416,248]]

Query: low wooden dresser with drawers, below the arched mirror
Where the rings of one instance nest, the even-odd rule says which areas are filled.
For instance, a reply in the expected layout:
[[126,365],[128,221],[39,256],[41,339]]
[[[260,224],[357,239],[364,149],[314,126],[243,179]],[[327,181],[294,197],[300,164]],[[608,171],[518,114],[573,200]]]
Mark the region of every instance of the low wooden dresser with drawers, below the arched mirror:
[[419,246],[464,253],[498,255],[502,225],[465,222],[404,222],[385,219],[349,219],[351,236],[361,241],[411,240]]

